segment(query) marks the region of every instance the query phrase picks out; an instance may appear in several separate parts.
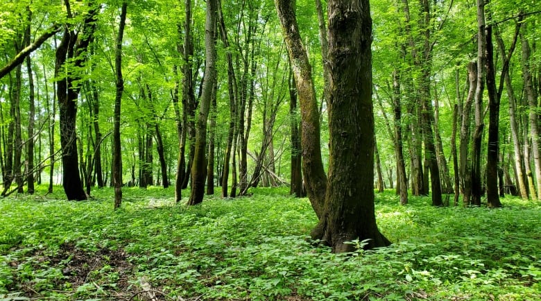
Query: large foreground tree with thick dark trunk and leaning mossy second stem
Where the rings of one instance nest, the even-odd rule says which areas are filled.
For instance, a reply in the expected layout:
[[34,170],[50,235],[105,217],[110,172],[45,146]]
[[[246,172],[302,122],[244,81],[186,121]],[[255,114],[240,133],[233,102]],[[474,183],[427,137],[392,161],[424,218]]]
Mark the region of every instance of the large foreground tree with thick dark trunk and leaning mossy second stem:
[[[306,52],[292,4],[291,1],[275,0],[301,101],[303,154],[312,156],[304,155],[306,165],[307,157],[320,160],[320,150],[311,148],[314,142],[306,140],[308,137],[319,141],[319,124],[313,121],[314,115],[310,111],[304,111],[307,107],[314,109],[315,99],[307,97],[313,97],[314,86],[311,85],[310,65],[303,60]],[[312,238],[322,239],[334,252],[351,251],[354,246],[347,241],[354,239],[366,239],[366,248],[387,246],[390,242],[377,229],[372,189],[375,145],[370,5],[367,0],[331,0],[327,8],[331,66],[329,178],[323,200],[318,199],[317,190],[308,193],[312,204],[321,205],[323,201],[323,211],[319,214],[316,211],[320,221]],[[305,129],[309,122],[315,126],[311,129],[313,132]],[[313,184],[309,183],[313,171],[304,169],[305,182]],[[309,186],[309,189],[314,187]]]

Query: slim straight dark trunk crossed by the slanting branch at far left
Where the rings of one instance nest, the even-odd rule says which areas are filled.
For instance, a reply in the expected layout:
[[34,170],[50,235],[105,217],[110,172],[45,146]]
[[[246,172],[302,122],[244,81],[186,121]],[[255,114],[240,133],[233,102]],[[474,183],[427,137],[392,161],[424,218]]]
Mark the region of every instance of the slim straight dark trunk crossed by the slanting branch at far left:
[[[32,12],[30,8],[28,10],[28,26],[26,26],[25,31],[25,42],[26,46],[30,45],[30,24],[32,20]],[[26,161],[27,163],[27,172],[26,172],[26,184],[27,191],[30,194],[34,193],[34,119],[35,119],[35,91],[34,91],[34,77],[32,74],[32,62],[31,57],[28,55],[26,57],[26,74],[28,76],[28,143],[26,145]]]

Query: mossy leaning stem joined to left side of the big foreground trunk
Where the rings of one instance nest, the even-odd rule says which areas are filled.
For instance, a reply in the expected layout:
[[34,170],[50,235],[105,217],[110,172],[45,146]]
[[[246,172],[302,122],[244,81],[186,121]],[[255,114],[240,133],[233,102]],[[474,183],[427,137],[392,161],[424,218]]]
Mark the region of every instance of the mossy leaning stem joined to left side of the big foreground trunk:
[[[304,184],[306,185],[310,203],[318,218],[321,218],[323,216],[323,205],[325,204],[325,191],[327,190],[327,175],[325,175],[323,161],[321,160],[318,103],[309,58],[302,44],[292,4],[291,1],[275,0],[300,101]],[[370,145],[370,153],[373,151],[372,147]],[[371,182],[372,180],[370,180]]]

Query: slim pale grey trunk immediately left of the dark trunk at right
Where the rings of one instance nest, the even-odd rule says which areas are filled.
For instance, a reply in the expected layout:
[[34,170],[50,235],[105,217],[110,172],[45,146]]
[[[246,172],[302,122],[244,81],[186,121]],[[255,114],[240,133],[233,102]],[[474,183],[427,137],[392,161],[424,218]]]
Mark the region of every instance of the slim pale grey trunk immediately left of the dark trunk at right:
[[472,200],[471,205],[481,206],[481,142],[483,139],[483,90],[485,88],[485,1],[476,0],[477,6],[477,85],[475,90],[475,132],[472,144]]

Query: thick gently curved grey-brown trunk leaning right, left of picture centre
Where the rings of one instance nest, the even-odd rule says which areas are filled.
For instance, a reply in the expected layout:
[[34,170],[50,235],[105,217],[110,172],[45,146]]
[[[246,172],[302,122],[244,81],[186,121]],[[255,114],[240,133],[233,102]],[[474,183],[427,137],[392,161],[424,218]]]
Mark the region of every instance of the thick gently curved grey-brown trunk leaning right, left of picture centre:
[[203,202],[203,194],[205,193],[207,119],[209,116],[212,90],[217,80],[216,44],[214,40],[217,12],[217,0],[208,0],[205,20],[205,78],[203,79],[203,92],[201,94],[196,125],[194,162],[191,166],[191,191],[188,205],[196,205]]

